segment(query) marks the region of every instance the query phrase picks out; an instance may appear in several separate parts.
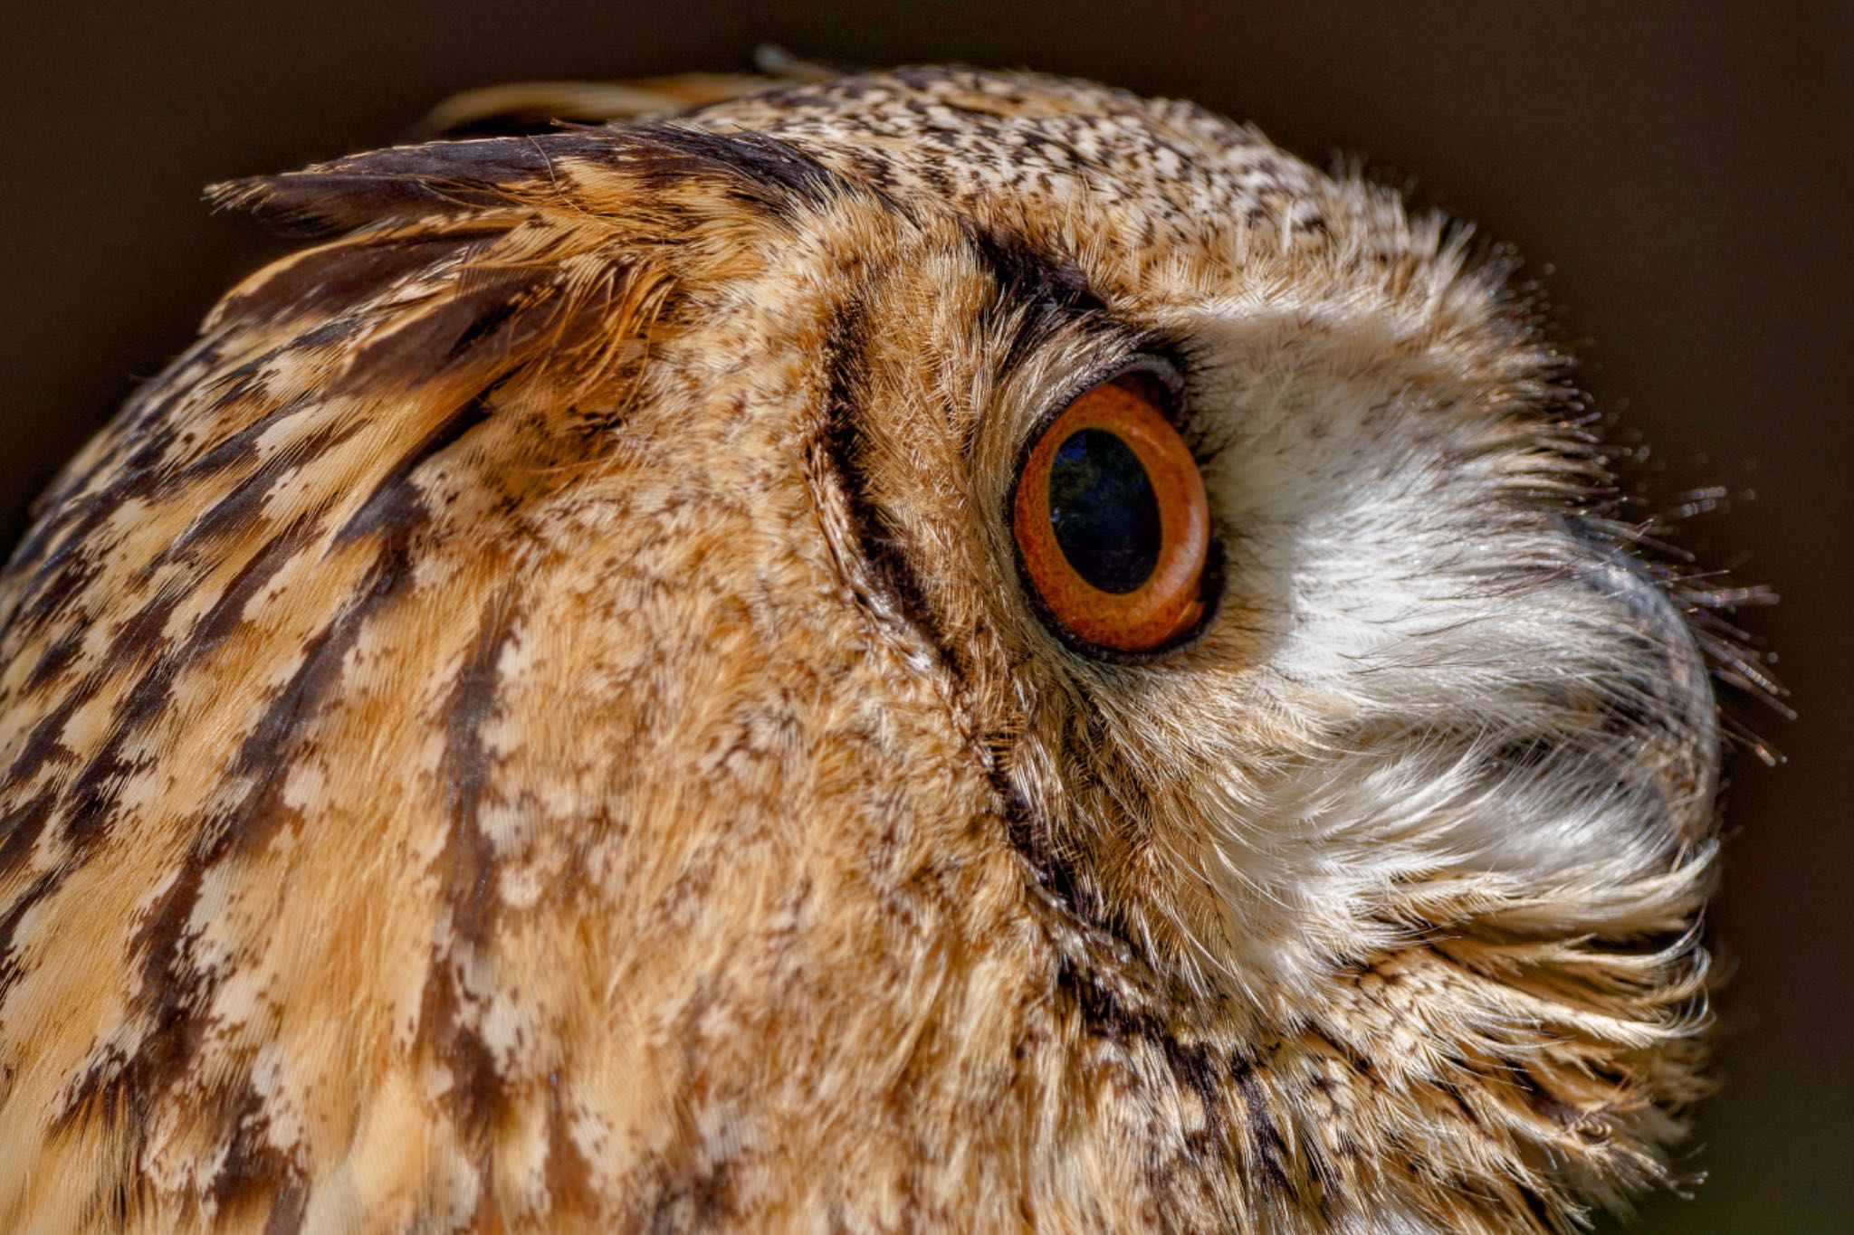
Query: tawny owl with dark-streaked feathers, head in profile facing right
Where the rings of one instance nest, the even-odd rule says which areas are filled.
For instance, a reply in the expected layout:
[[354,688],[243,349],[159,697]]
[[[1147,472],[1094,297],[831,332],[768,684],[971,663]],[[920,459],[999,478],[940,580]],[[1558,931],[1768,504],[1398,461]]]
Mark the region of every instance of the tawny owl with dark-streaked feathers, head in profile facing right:
[[819,78],[211,191],[304,246],[0,581],[0,1228],[1678,1185],[1752,670],[1513,259],[1192,104]]

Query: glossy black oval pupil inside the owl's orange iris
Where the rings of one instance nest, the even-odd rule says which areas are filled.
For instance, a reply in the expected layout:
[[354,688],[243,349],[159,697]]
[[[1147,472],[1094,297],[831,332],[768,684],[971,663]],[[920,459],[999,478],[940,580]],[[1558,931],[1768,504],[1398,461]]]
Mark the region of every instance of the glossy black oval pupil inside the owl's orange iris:
[[1079,430],[1049,465],[1049,524],[1075,574],[1131,593],[1159,565],[1159,498],[1140,457],[1107,430]]

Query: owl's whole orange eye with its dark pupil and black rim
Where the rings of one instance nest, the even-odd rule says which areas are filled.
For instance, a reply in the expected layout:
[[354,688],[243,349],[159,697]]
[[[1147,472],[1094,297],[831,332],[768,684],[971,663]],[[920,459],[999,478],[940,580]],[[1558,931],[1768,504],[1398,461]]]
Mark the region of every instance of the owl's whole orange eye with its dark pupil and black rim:
[[1159,652],[1203,620],[1203,478],[1144,374],[1085,391],[1031,443],[1010,531],[1044,618],[1085,650]]

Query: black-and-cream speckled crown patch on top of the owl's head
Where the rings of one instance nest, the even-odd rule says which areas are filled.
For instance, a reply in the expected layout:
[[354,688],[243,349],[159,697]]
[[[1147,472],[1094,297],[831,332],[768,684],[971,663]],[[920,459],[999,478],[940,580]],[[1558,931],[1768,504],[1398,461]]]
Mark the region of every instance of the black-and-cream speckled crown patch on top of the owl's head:
[[758,131],[905,206],[1153,256],[1255,226],[1324,231],[1324,176],[1187,102],[1033,74],[903,69],[692,117]]

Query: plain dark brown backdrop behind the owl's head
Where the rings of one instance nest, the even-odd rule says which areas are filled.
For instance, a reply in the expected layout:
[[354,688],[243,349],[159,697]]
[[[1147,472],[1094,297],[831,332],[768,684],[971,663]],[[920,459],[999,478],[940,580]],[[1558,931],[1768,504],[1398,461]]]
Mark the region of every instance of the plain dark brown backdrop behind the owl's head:
[[1782,652],[1802,715],[1745,709],[1789,763],[1739,757],[1732,776],[1713,917],[1735,963],[1730,1079],[1693,1154],[1711,1178],[1691,1204],[1652,1200],[1643,1229],[1854,1229],[1847,4],[174,7],[9,6],[7,544],[52,468],[280,252],[208,217],[200,185],[389,143],[471,85],[742,69],[766,39],[851,63],[1027,65],[1190,96],[1316,161],[1420,174],[1418,202],[1518,243],[1585,341],[1585,383],[1654,444],[1663,498],[1730,487],[1730,513],[1687,544],[1784,594],[1746,624]]

